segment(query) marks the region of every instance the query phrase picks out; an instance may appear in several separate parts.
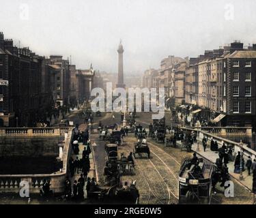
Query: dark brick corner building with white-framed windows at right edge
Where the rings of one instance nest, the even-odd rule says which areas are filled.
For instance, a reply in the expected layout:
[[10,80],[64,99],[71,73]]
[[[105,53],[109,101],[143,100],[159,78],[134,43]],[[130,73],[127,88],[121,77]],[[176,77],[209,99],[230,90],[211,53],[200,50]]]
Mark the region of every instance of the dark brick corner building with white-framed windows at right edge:
[[256,123],[256,45],[255,50],[236,50],[225,56],[224,98],[227,125]]

